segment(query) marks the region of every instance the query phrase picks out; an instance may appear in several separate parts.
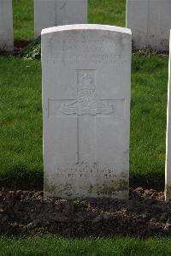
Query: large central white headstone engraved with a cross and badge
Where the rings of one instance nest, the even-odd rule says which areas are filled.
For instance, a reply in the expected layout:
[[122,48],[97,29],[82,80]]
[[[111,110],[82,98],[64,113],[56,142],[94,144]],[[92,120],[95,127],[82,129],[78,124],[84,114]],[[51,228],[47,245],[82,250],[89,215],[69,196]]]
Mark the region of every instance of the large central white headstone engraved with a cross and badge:
[[42,32],[44,195],[128,197],[131,31]]

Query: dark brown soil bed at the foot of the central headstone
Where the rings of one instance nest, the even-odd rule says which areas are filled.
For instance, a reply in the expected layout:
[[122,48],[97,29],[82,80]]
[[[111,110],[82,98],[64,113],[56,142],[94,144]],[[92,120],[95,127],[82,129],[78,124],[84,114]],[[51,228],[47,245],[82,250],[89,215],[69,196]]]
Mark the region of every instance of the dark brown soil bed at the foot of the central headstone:
[[72,237],[171,235],[171,203],[153,189],[131,189],[129,200],[44,199],[43,192],[0,190],[0,235]]

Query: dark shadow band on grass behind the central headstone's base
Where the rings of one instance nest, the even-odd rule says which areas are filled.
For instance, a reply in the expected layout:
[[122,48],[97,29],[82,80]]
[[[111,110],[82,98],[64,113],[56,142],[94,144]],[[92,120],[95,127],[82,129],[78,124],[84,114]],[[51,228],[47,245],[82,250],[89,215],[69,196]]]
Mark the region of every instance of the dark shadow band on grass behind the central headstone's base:
[[[15,166],[14,170],[9,170],[9,174],[1,174],[0,187],[16,189],[38,189],[44,188],[44,174],[42,170],[26,170],[25,166]],[[153,188],[157,191],[164,190],[164,174],[147,173],[131,174],[131,188]]]

